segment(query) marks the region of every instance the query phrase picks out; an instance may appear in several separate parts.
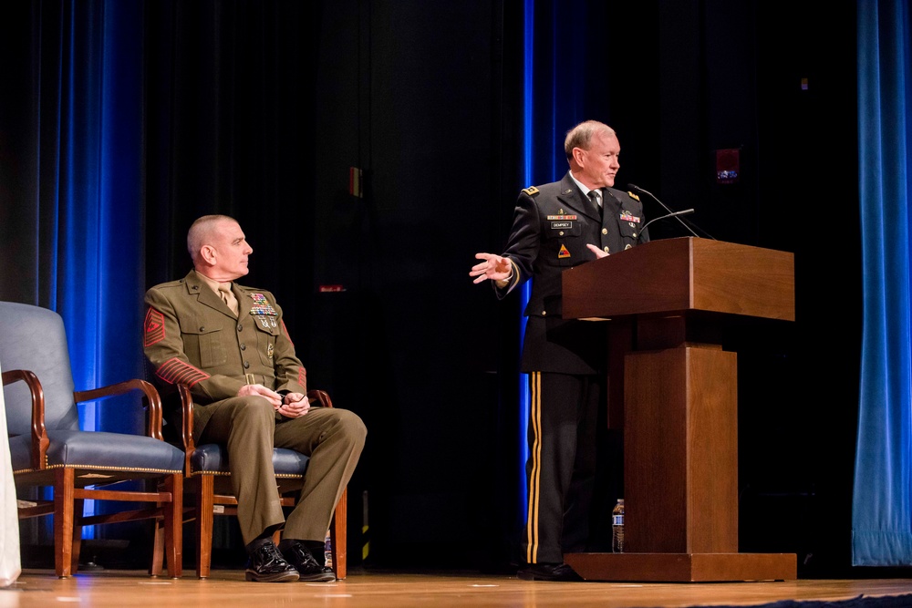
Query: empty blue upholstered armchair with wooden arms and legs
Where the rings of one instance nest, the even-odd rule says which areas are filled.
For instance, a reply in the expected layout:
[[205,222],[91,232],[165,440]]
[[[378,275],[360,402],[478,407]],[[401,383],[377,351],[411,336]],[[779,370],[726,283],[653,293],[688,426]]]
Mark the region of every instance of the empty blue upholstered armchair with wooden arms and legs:
[[[161,438],[155,387],[137,379],[74,391],[63,319],[28,304],[0,302],[0,369],[16,488],[54,489],[53,500],[20,508],[19,518],[53,514],[57,576],[77,572],[83,526],[155,519],[163,520],[168,572],[180,577],[184,455]],[[79,429],[77,403],[131,391],[140,391],[148,410],[148,437]],[[143,416],[139,408],[137,416]],[[133,491],[120,483],[132,479],[154,481],[157,489]],[[84,517],[84,500],[147,504]]]

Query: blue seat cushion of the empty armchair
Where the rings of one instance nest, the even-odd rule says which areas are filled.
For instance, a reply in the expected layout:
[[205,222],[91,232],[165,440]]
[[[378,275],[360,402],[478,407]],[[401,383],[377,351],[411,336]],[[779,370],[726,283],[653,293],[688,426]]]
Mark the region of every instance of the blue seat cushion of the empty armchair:
[[[47,467],[161,471],[183,470],[183,452],[169,443],[124,433],[48,430]],[[9,439],[13,470],[32,469],[31,438]]]

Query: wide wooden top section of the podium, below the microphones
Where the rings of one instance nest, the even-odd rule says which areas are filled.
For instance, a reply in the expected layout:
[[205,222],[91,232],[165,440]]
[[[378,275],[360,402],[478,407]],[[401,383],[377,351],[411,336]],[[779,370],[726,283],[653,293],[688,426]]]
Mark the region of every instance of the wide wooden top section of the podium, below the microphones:
[[703,311],[794,321],[794,254],[694,237],[650,241],[562,274],[564,318]]

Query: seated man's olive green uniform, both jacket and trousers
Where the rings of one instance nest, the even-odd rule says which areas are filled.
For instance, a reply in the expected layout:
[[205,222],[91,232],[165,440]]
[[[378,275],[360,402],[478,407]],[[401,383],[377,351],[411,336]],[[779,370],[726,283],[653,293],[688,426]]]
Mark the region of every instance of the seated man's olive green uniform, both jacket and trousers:
[[162,392],[190,387],[194,440],[226,445],[244,543],[285,521],[274,447],[310,457],[285,537],[322,540],[364,446],[364,424],[342,408],[312,407],[287,418],[264,397],[238,397],[248,384],[306,394],[307,376],[273,294],[237,283],[232,292],[236,315],[196,271],[152,287],[145,297],[145,355]]

